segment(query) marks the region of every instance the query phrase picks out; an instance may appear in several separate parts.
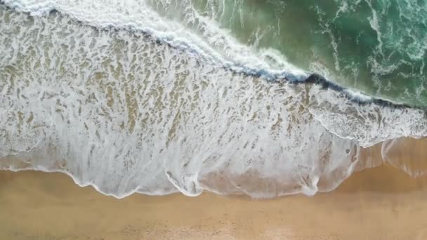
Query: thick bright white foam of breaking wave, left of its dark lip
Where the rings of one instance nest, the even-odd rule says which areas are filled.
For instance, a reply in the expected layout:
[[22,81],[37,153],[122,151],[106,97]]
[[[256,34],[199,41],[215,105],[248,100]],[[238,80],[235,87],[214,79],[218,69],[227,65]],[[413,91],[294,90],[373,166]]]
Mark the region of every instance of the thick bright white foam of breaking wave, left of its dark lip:
[[[298,80],[307,76],[303,70],[278,59],[278,55],[275,55],[275,60],[280,61],[281,69],[266,64],[262,60],[263,52],[258,53],[254,48],[239,44],[226,29],[218,27],[211,18],[200,15],[189,0],[5,0],[4,3],[32,15],[45,15],[57,10],[95,27],[138,29],[235,72],[251,73],[261,69],[270,74],[293,76]],[[156,6],[162,11],[155,11]],[[180,22],[170,20],[166,18],[167,14],[162,15],[163,11],[175,14],[181,11],[182,19]],[[194,26],[190,28],[188,25]]]

